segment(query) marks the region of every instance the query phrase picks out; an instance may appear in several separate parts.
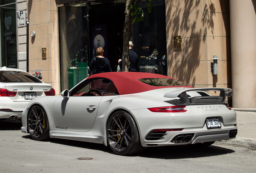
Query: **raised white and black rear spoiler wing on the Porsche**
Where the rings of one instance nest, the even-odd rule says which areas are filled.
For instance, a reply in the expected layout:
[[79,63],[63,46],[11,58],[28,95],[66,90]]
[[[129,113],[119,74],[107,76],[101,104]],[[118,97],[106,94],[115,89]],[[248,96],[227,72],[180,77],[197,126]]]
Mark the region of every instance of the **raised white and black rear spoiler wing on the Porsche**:
[[[186,92],[189,91],[220,91],[219,96],[197,96],[197,97],[191,97],[188,98],[188,95]],[[183,88],[175,91],[171,91],[169,93],[165,93],[163,97],[167,98],[176,98],[180,95],[180,99],[173,99],[170,101],[165,101],[167,103],[173,104],[173,105],[211,105],[211,104],[225,104],[226,97],[231,97],[233,93],[232,89],[228,88],[197,88],[197,89],[191,89],[191,88]]]

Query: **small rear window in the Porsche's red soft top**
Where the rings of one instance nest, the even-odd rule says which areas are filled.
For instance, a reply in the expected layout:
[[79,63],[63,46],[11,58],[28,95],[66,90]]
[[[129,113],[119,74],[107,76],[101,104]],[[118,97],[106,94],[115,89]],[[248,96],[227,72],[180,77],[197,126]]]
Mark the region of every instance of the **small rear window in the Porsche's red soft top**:
[[168,86],[189,86],[188,84],[172,78],[142,78],[140,82],[144,82],[155,87],[168,87]]

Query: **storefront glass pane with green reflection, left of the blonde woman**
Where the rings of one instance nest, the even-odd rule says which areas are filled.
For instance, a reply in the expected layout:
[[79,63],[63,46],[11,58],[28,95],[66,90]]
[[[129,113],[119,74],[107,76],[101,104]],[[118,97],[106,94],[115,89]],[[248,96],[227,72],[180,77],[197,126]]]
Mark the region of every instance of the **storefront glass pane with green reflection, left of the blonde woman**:
[[59,7],[61,89],[88,76],[86,3]]

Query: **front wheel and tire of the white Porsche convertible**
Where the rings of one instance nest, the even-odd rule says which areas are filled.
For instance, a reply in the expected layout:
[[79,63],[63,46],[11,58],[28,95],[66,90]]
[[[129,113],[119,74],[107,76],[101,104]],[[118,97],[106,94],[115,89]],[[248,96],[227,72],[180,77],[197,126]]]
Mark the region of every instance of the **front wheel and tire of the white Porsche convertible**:
[[36,141],[50,139],[49,123],[45,111],[40,106],[33,106],[27,116],[27,127],[30,136]]

